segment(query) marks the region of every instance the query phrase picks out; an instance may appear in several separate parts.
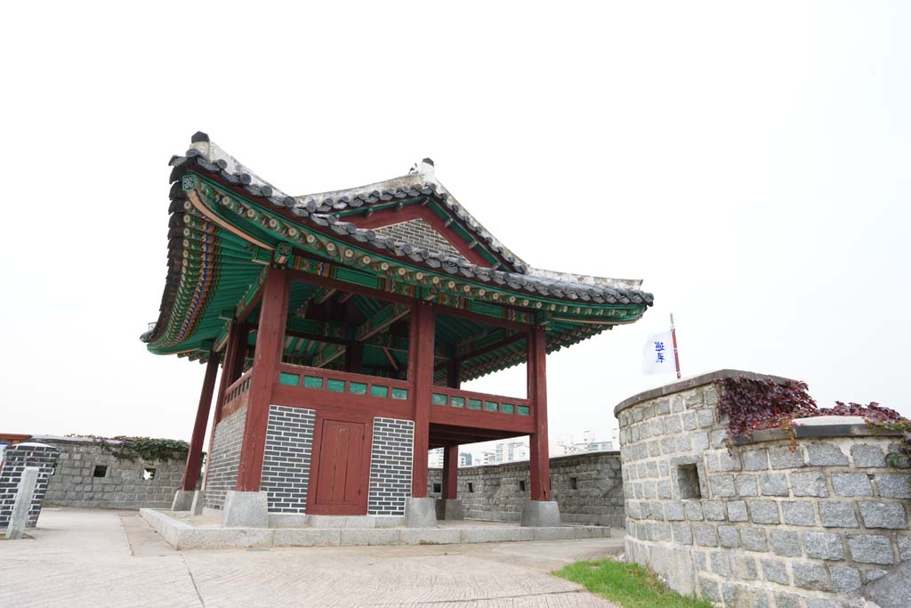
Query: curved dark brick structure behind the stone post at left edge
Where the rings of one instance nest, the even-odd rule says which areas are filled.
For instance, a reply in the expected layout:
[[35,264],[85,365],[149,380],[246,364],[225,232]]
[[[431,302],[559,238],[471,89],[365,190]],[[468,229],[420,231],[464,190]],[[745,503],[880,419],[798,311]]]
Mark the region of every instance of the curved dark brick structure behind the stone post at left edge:
[[57,462],[60,450],[53,446],[37,443],[21,443],[6,448],[3,454],[3,467],[0,468],[0,528],[9,526],[13,515],[15,495],[19,491],[19,481],[26,467],[38,468],[38,479],[32,505],[28,510],[26,526],[34,528],[41,514],[41,504],[47,492],[47,480]]

